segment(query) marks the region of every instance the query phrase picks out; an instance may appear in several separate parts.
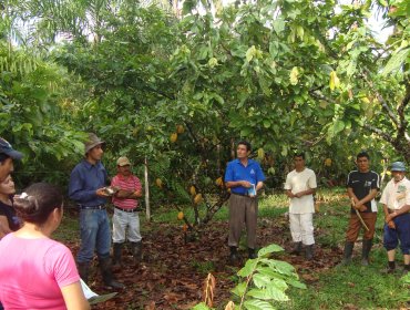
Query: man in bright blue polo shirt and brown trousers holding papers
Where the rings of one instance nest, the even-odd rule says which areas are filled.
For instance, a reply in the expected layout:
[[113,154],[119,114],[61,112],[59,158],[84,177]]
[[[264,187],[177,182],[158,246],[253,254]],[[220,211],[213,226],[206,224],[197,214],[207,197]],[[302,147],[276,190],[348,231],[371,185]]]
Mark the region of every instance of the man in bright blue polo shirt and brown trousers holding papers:
[[237,158],[228,163],[225,173],[225,185],[230,188],[228,237],[230,264],[238,261],[237,247],[244,223],[249,258],[256,258],[257,193],[264,187],[265,176],[260,165],[248,158],[250,151],[248,142],[239,142],[236,148]]

